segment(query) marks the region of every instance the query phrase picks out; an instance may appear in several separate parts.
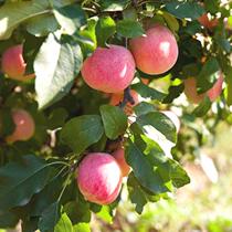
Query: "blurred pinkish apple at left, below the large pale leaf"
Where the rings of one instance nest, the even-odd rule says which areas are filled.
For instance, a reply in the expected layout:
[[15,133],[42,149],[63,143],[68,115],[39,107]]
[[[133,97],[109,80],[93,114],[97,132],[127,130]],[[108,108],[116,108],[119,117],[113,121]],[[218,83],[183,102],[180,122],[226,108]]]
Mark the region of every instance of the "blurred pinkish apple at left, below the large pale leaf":
[[8,143],[28,140],[34,135],[35,125],[32,116],[24,109],[14,109],[12,119],[15,125],[14,131],[6,138]]

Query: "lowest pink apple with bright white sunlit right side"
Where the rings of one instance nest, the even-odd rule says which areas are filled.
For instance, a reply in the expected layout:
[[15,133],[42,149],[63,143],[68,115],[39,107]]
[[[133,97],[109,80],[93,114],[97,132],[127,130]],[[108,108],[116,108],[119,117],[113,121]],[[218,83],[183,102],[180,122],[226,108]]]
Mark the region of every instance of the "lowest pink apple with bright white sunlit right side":
[[88,154],[77,168],[77,184],[84,198],[98,204],[109,204],[119,194],[122,171],[113,156]]

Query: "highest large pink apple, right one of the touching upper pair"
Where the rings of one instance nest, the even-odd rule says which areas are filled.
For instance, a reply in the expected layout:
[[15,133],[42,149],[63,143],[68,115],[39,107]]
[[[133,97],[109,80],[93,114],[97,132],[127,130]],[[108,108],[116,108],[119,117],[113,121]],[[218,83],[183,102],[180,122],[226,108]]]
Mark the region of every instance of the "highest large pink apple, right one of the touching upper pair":
[[165,73],[175,65],[178,59],[175,35],[160,24],[155,24],[145,36],[131,39],[129,45],[137,67],[144,73]]

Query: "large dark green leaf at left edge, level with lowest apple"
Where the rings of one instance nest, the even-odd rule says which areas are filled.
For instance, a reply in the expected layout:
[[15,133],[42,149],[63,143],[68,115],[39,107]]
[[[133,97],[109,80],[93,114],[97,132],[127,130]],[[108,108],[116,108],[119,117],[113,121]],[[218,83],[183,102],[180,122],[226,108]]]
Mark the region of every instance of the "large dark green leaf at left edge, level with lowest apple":
[[52,170],[44,160],[31,155],[0,168],[0,209],[27,204],[46,186]]

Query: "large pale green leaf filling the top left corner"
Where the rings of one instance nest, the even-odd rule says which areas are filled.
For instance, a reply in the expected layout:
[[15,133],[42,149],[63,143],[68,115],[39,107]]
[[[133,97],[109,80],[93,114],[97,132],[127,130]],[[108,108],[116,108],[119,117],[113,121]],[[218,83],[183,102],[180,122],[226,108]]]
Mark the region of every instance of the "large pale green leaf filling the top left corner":
[[9,2],[0,8],[0,40],[10,38],[12,31],[25,20],[50,12],[49,1]]

